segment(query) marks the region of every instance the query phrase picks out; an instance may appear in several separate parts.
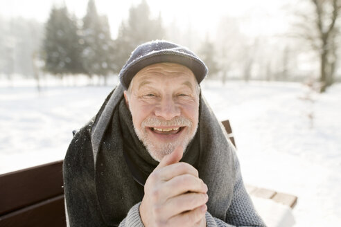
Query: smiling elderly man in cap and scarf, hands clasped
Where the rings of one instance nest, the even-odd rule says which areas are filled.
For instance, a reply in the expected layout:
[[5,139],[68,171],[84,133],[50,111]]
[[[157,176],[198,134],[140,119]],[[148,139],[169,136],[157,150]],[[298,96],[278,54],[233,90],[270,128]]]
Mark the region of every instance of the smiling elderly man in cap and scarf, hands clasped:
[[138,46],[64,160],[69,226],[264,226],[202,97],[207,67],[166,41]]

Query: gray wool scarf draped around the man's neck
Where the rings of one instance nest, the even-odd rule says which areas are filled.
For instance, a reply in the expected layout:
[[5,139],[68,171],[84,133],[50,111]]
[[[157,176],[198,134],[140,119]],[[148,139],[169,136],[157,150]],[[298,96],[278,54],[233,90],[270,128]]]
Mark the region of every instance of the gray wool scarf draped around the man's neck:
[[[134,133],[123,91],[120,84],[108,96],[91,129],[96,193],[107,225],[119,224],[143,197],[127,165],[126,156],[141,170],[142,176],[147,177],[158,164]],[[211,215],[226,220],[235,183],[234,148],[202,97],[199,122],[197,134],[181,161],[193,165],[207,184],[207,206]]]

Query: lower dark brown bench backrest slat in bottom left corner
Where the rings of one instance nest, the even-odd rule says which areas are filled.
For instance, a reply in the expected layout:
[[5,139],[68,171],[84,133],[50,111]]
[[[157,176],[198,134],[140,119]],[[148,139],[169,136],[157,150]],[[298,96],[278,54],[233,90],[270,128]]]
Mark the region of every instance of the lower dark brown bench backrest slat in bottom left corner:
[[0,226],[67,226],[64,211],[64,195],[48,199],[32,206],[0,216]]

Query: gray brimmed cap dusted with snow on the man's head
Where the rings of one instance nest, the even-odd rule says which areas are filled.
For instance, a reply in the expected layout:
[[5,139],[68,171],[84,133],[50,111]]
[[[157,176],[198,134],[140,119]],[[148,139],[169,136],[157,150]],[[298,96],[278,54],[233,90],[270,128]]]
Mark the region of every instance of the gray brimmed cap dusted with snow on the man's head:
[[198,83],[207,75],[207,66],[188,48],[165,40],[146,42],[132,51],[125,63],[119,78],[125,89],[128,89],[134,75],[150,64],[172,62],[182,64],[194,73]]

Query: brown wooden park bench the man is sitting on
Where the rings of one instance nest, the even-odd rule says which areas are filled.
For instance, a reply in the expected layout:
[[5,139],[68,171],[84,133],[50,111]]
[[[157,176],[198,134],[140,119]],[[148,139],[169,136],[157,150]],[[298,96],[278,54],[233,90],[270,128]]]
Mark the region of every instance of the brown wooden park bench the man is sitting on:
[[[222,122],[236,146],[228,120]],[[66,226],[62,162],[0,174],[0,226]],[[293,208],[297,197],[246,185],[247,191]]]

